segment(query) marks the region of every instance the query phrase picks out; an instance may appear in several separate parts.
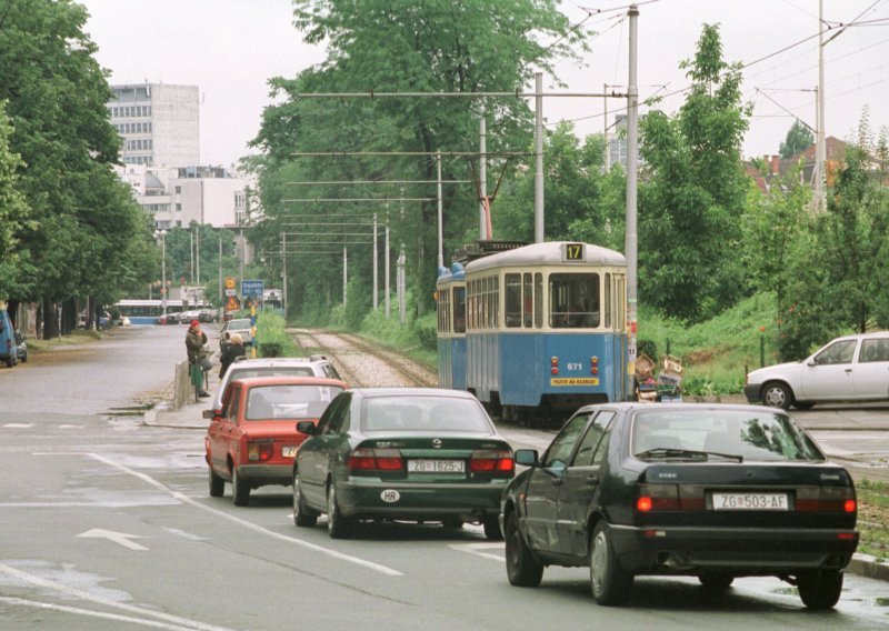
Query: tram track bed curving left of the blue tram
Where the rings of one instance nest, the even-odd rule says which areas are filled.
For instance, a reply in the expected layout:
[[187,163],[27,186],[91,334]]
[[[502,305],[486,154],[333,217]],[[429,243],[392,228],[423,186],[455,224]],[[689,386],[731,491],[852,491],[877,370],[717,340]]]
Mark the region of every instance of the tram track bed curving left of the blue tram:
[[288,329],[288,333],[306,354],[327,355],[353,385],[428,388],[438,383],[434,370],[359,335],[316,329]]

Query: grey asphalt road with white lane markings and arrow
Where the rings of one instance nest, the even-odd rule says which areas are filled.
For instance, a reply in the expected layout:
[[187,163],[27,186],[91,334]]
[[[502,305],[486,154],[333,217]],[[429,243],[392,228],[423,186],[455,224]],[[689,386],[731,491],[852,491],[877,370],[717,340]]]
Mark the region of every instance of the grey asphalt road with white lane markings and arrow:
[[[0,629],[885,629],[889,583],[848,575],[811,614],[777,579],[707,597],[637,580],[602,608],[587,571],[506,580],[480,527],[379,524],[330,540],[297,529],[289,489],[210,498],[203,433],[146,427],[184,354],[184,328],[133,328],[0,370]],[[214,345],[212,347],[214,348]],[[840,431],[842,430],[826,430]],[[858,430],[863,431],[863,430]],[[546,432],[515,439],[548,442]],[[843,434],[845,435],[845,434]]]

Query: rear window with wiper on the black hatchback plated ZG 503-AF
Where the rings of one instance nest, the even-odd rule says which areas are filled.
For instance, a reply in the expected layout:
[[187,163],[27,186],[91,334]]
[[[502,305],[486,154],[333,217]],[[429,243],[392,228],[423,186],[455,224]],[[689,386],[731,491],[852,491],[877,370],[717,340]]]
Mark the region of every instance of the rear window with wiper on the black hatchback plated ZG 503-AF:
[[766,411],[640,411],[632,423],[631,450],[643,460],[825,460],[790,417]]

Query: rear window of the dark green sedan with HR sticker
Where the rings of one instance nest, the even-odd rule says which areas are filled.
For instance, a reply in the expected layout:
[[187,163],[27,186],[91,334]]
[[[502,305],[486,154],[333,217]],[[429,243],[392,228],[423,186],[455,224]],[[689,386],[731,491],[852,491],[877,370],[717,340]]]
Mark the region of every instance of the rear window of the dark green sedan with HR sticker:
[[492,431],[479,403],[451,397],[371,397],[363,402],[361,427],[367,432]]

